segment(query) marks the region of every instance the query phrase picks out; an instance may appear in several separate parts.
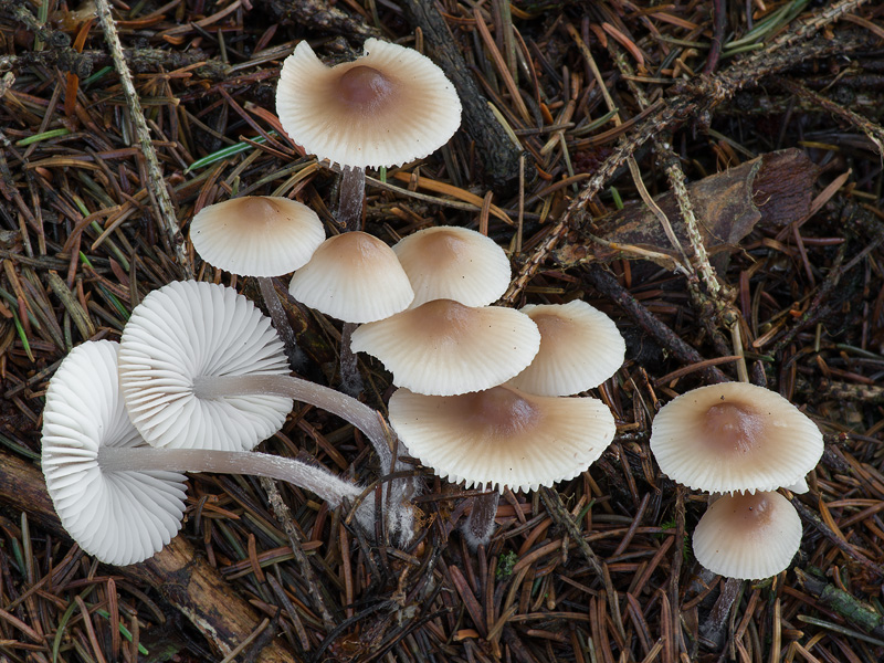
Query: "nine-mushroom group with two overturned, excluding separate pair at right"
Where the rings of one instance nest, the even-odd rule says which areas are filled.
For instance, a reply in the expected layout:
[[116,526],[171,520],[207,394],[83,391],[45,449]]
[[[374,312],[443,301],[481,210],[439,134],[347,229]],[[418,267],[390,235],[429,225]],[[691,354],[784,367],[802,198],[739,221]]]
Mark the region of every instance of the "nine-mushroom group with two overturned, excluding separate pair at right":
[[[350,200],[339,220],[350,229],[352,217],[361,217],[365,167],[425,156],[460,124],[453,87],[429,60],[377,40],[366,52],[328,69],[302,42],[285,63],[277,95],[283,127],[311,152],[346,167],[341,188],[350,193],[343,198]],[[406,63],[419,69],[406,72]],[[423,105],[425,113],[418,110]],[[404,115],[397,115],[399,106]],[[356,137],[354,129],[368,133]],[[617,327],[582,302],[522,312],[490,306],[509,283],[509,262],[480,233],[432,228],[392,250],[358,231],[325,240],[306,206],[243,197],[201,210],[191,239],[211,264],[257,277],[274,326],[290,334],[290,361],[297,361],[296,346],[272,277],[294,271],[293,296],[347,325],[362,324],[354,349],[379,357],[401,387],[390,401],[397,433],[410,453],[452,481],[498,491],[551,485],[588,467],[613,438],[613,418],[601,401],[562,397],[619,368],[624,345]],[[250,301],[193,281],[150,293],[118,346],[75,348],[50,383],[43,429],[49,492],[72,536],[110,564],[149,557],[180,528],[183,472],[253,473],[306,487],[334,507],[358,503],[361,486],[252,451],[281,428],[295,399],[361,429],[382,471],[398,469],[380,414],[290,376],[290,361]],[[381,501],[402,541],[411,535],[404,483],[385,485],[391,498]],[[473,543],[491,535],[493,495],[493,508],[474,509]],[[368,530],[373,502],[355,512]]]

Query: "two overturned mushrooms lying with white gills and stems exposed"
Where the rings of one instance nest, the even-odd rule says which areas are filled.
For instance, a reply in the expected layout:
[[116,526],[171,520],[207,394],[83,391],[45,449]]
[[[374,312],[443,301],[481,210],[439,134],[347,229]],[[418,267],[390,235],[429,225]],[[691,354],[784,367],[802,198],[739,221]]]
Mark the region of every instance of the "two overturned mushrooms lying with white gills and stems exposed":
[[[298,399],[383,441],[377,412],[287,375],[270,320],[232,288],[173,282],[133,312],[120,344],[74,348],[50,381],[43,472],[62,524],[102,561],[141,561],[181,526],[182,472],[257,474],[333,506],[360,486],[313,464],[250,451]],[[356,513],[373,524],[371,503]]]

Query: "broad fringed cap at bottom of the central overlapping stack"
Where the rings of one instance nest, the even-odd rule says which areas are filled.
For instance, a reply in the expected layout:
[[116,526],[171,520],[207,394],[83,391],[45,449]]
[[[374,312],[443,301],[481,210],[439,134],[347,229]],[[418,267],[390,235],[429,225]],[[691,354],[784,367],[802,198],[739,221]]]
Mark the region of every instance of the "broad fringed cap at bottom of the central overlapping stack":
[[463,396],[398,389],[390,423],[411,455],[452,483],[501,492],[573,478],[613,440],[610,410],[594,398],[549,398],[502,386]]

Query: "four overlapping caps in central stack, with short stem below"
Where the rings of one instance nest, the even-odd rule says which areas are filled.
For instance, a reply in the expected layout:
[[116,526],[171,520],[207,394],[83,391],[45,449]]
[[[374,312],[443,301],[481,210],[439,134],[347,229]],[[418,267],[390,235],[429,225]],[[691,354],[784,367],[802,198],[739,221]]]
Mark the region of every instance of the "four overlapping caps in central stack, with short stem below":
[[611,377],[625,345],[583,302],[491,306],[509,283],[509,261],[474,231],[430,228],[393,251],[414,302],[359,327],[354,349],[392,372],[390,423],[412,455],[454,483],[496,488],[465,527],[471,544],[487,544],[505,487],[572,478],[611,442],[613,417],[601,401],[561,397]]

